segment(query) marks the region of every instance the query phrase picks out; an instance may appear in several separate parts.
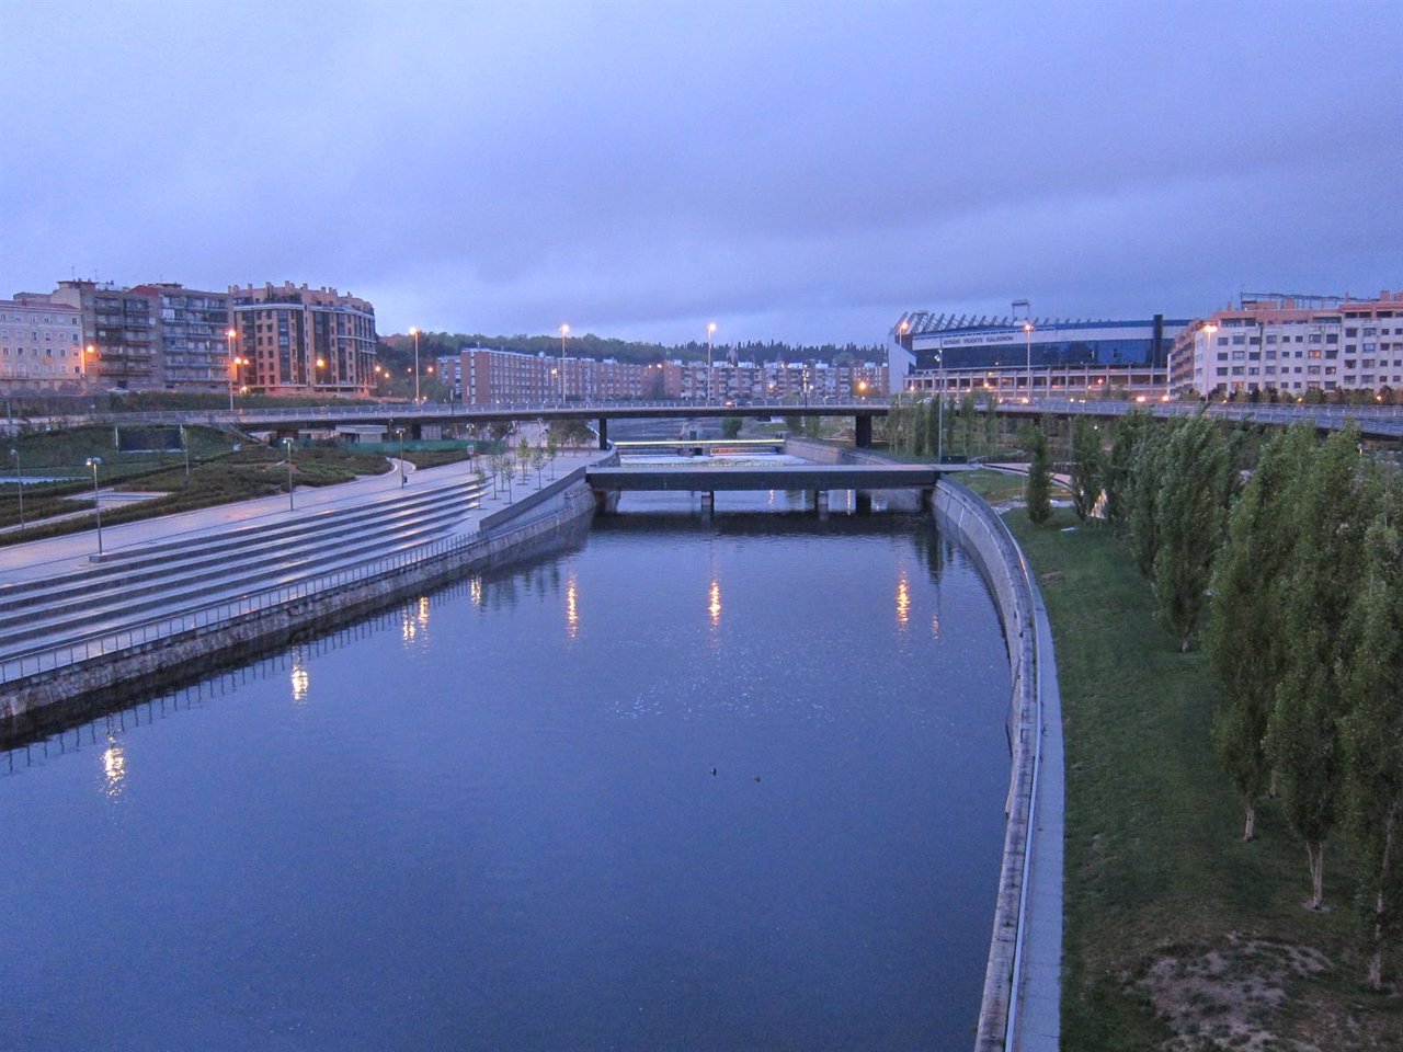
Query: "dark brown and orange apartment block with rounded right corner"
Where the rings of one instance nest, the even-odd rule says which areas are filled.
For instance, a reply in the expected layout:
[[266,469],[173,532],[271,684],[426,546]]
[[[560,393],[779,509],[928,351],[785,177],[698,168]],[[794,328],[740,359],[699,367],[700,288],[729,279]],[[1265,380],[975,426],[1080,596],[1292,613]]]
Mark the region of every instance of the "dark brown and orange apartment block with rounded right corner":
[[234,386],[261,394],[363,397],[375,386],[375,307],[335,289],[229,289]]

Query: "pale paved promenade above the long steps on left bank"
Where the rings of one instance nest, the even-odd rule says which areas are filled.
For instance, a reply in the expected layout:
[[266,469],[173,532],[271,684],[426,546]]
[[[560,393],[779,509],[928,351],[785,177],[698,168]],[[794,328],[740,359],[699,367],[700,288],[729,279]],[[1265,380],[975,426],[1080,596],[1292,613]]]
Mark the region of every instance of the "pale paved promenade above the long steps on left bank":
[[[577,467],[596,463],[606,454],[598,449],[561,450],[556,457],[554,471],[550,467],[542,474],[543,484],[551,481],[551,476],[560,478],[563,474],[574,471]],[[394,461],[397,463],[397,461]],[[377,504],[391,504],[397,501],[404,490],[415,490],[449,483],[466,483],[473,478],[474,467],[460,461],[442,467],[415,470],[412,464],[405,464],[407,485],[400,484],[398,467],[379,476],[366,476],[351,483],[324,487],[297,488],[293,494],[293,509],[288,509],[288,494],[276,497],[261,497],[254,501],[240,501],[237,504],[223,504],[215,508],[202,508],[195,512],[181,512],[166,515],[142,522],[130,522],[121,526],[102,527],[102,551],[116,553],[128,548],[137,548],[154,541],[168,541],[181,537],[198,537],[213,530],[240,525],[276,526],[289,522],[307,520],[333,509],[370,506]],[[485,461],[477,460],[476,467],[487,468]],[[512,497],[521,499],[536,491],[536,473],[528,473],[529,481],[521,481],[521,470],[515,473],[512,483]],[[463,522],[457,525],[455,533],[476,532],[478,523],[492,512],[506,508],[506,492],[492,497],[492,487],[488,485],[480,506],[467,512]],[[90,555],[97,553],[97,530],[87,529],[81,533],[69,533],[62,537],[35,540],[24,544],[6,544],[0,547],[0,589],[6,584],[20,581],[36,581],[58,574],[69,572],[80,567],[88,567]],[[3,595],[3,593],[0,593]]]

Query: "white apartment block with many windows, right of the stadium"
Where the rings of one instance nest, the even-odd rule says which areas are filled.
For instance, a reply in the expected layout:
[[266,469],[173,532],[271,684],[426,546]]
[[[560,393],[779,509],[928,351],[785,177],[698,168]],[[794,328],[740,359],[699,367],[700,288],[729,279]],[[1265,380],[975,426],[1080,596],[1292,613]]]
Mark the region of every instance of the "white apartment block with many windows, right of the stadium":
[[1403,292],[1243,293],[1174,341],[1176,396],[1388,391],[1403,386]]

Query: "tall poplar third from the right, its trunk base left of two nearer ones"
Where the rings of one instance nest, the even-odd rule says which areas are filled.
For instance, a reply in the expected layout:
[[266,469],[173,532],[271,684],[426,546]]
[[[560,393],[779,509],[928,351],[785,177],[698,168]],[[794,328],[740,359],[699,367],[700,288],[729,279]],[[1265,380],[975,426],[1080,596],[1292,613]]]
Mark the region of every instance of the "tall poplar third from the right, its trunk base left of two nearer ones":
[[1212,578],[1205,642],[1222,693],[1214,708],[1214,752],[1246,812],[1243,840],[1256,833],[1257,801],[1271,783],[1267,717],[1287,648],[1282,586],[1291,564],[1288,494],[1310,461],[1315,435],[1278,432],[1232,508],[1228,540]]

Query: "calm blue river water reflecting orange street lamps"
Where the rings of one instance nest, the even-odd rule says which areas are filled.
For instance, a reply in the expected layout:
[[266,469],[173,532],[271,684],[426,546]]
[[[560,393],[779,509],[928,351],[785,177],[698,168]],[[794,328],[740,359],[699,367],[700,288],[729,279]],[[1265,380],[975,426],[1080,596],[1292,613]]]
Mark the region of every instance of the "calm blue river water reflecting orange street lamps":
[[0,1046],[968,1048],[992,602],[923,519],[718,505],[0,755]]

